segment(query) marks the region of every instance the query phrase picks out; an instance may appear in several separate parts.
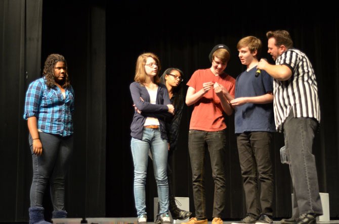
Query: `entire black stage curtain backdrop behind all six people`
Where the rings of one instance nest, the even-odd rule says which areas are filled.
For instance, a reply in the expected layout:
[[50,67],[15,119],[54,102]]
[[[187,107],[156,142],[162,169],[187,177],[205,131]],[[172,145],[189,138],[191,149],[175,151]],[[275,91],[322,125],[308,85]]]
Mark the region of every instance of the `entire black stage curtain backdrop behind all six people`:
[[[319,84],[322,110],[314,154],[320,192],[329,193],[330,217],[339,215],[339,19],[326,2],[308,6],[295,1],[272,3],[42,1],[0,0],[0,222],[27,221],[32,177],[28,130],[22,119],[28,84],[41,76],[50,53],[68,62],[76,95],[74,153],[66,184],[69,217],[136,216],[133,196],[133,160],[130,124],[133,116],[129,85],[139,54],[158,54],[162,69],[183,70],[185,83],[196,69],[209,68],[210,49],[224,43],[231,49],[226,72],[234,78],[244,67],[236,44],[244,36],[263,41],[266,32],[286,29],[294,46],[310,58]],[[299,5],[298,5],[299,4]],[[324,15],[325,14],[325,15]],[[184,107],[179,148],[175,154],[175,191],[190,198],[194,212],[191,169],[187,149],[192,106]],[[244,195],[234,135],[234,116],[227,122],[227,205],[223,218],[243,217]],[[107,128],[106,128],[107,127]],[[107,136],[107,138],[106,138]],[[291,215],[291,181],[280,163],[282,134],[275,134],[272,160],[275,177],[275,218]],[[213,179],[206,154],[207,216],[211,219]],[[147,212],[153,217],[156,185],[149,163]],[[49,197],[46,215],[52,211]]]

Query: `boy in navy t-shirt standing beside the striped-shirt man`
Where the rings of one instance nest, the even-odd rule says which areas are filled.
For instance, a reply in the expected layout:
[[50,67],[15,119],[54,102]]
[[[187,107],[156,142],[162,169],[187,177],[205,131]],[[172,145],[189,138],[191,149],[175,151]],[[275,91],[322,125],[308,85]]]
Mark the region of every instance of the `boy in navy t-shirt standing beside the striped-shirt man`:
[[230,103],[235,108],[235,134],[247,214],[236,223],[273,223],[270,156],[272,132],[275,132],[273,79],[257,69],[261,48],[261,40],[254,36],[244,37],[237,44],[239,59],[246,70],[236,78],[235,99]]

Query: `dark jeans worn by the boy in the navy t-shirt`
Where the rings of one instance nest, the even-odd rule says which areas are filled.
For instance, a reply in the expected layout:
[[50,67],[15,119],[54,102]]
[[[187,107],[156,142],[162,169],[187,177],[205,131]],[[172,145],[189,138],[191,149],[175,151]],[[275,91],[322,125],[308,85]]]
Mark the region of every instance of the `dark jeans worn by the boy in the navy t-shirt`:
[[[273,216],[271,141],[271,132],[245,132],[237,135],[246,211],[255,216],[259,214]],[[260,200],[257,175],[261,183]]]

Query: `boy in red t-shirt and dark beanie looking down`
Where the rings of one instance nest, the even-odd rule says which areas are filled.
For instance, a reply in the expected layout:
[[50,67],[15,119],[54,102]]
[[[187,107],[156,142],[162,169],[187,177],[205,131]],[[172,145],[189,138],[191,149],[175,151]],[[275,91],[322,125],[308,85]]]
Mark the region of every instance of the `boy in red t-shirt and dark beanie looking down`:
[[[195,217],[188,224],[207,224],[204,163],[208,149],[215,183],[212,224],[222,224],[225,208],[226,179],[224,170],[226,124],[224,113],[232,115],[229,100],[234,98],[235,79],[224,70],[230,59],[226,45],[216,45],[209,54],[211,67],[197,70],[188,81],[186,104],[194,104],[190,121],[188,148],[191,159]],[[207,147],[206,147],[207,146]],[[184,223],[185,224],[185,223]]]

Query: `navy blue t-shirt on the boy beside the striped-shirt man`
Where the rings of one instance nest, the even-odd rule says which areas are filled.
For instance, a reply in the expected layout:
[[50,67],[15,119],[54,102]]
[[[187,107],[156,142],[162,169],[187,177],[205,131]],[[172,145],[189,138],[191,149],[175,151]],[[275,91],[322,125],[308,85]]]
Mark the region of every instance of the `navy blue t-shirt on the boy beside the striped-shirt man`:
[[[264,70],[256,77],[257,67],[241,73],[235,82],[235,98],[261,96],[273,92],[273,78]],[[235,106],[235,133],[275,132],[273,103],[245,103]]]

